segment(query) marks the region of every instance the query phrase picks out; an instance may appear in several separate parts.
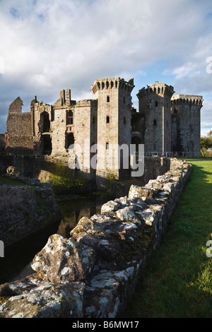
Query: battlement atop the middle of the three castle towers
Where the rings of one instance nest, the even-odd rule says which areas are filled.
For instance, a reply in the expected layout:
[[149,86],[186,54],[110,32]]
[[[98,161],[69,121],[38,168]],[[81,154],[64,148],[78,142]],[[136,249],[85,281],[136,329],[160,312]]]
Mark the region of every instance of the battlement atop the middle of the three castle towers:
[[143,97],[143,95],[150,95],[152,93],[156,95],[166,95],[167,97],[172,97],[175,91],[172,85],[167,85],[165,83],[155,81],[155,84],[148,84],[147,88],[144,87],[139,90],[137,97],[140,98]]

